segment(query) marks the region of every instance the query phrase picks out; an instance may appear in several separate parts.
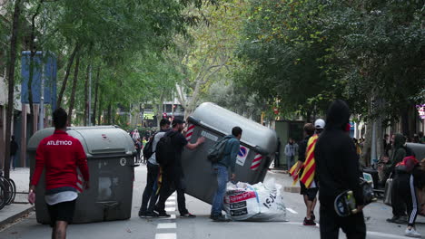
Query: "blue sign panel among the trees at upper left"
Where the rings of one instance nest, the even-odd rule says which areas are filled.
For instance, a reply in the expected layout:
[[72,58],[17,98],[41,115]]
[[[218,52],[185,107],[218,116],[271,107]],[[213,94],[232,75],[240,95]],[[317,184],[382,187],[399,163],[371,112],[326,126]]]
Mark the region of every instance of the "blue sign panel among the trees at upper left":
[[[43,72],[44,67],[44,72]],[[33,62],[33,102],[40,103],[42,74],[44,75],[44,104],[56,108],[56,59],[51,53],[37,52]],[[21,102],[29,103],[28,82],[30,73],[30,52],[22,52]]]

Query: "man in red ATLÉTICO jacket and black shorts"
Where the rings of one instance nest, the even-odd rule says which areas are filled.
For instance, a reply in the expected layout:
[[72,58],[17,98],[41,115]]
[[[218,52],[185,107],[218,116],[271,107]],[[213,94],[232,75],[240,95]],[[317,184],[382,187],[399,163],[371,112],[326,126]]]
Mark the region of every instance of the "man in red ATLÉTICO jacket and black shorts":
[[54,110],[54,134],[44,138],[35,155],[35,172],[30,184],[28,201],[35,203],[35,186],[45,168],[45,203],[53,227],[52,238],[66,238],[66,227],[73,220],[78,196],[77,167],[84,177],[84,188],[89,188],[89,170],[84,148],[78,139],[66,133],[67,114]]

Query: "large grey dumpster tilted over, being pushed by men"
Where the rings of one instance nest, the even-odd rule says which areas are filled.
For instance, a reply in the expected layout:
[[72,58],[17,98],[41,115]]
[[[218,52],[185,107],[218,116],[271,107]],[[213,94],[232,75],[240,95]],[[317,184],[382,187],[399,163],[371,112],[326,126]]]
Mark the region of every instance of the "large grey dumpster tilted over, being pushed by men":
[[242,128],[241,148],[236,161],[236,180],[255,184],[261,182],[274,159],[277,149],[276,133],[250,119],[213,103],[203,103],[188,118],[186,139],[196,142],[205,137],[205,143],[194,150],[184,148],[182,164],[186,193],[211,204],[217,188],[212,164],[206,158],[208,149],[232,128]]

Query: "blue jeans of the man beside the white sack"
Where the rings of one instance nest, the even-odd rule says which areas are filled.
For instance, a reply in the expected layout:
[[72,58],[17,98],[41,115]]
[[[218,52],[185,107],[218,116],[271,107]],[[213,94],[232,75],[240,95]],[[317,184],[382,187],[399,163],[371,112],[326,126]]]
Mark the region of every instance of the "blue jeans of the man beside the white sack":
[[222,165],[214,165],[214,174],[217,176],[217,191],[215,191],[213,199],[213,208],[211,215],[222,215],[222,201],[226,193],[226,185],[229,182],[229,173],[227,167]]

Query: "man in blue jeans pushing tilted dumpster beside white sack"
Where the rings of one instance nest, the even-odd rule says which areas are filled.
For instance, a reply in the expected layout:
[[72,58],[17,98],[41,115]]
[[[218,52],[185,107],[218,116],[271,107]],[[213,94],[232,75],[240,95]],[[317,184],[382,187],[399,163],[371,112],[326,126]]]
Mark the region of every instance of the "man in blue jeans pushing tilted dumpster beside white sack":
[[242,129],[234,127],[232,135],[226,136],[226,146],[224,147],[224,157],[213,164],[214,174],[217,176],[217,190],[213,197],[213,206],[211,208],[211,216],[215,222],[228,222],[222,215],[222,201],[226,192],[226,185],[229,182],[229,169],[231,173],[231,180],[234,180],[234,167],[236,164],[236,157],[238,156],[239,148],[241,147],[239,140],[242,138]]

